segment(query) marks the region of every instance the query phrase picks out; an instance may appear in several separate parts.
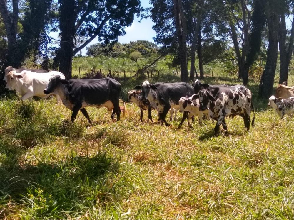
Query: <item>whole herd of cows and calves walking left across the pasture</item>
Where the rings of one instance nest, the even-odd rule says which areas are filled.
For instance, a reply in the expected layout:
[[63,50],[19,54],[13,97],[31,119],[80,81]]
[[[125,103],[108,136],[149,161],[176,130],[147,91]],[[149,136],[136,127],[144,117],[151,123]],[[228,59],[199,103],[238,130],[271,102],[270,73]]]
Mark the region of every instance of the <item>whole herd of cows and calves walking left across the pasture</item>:
[[[42,74],[40,74],[42,73]],[[66,80],[61,72],[34,69],[15,69],[11,66],[5,69],[4,80],[6,88],[21,93],[21,100],[31,100],[33,96],[46,98],[55,95],[57,103],[62,103],[72,111],[71,121],[74,122],[78,111],[91,122],[85,109],[87,106],[106,107],[112,110],[111,119],[120,119],[126,113],[126,105],[119,106],[119,97],[122,97],[121,84],[115,79],[70,79]],[[294,113],[294,87],[279,84],[275,96],[269,98],[268,106],[271,106],[283,118],[285,114],[292,116]],[[227,132],[225,117],[241,116],[244,120],[245,129],[249,131],[250,113],[253,110],[251,125],[254,125],[255,112],[252,103],[252,93],[242,85],[209,85],[203,84],[198,79],[192,86],[186,82],[149,83],[147,80],[137,85],[134,90],[128,92],[128,102],[135,103],[141,111],[140,121],[143,120],[143,112],[148,111],[148,121],[152,120],[151,110],[158,112],[158,122],[166,126],[166,115],[170,112],[170,120],[176,120],[177,111],[183,112],[182,120],[178,127],[188,119],[198,116],[201,123],[203,116],[217,121],[214,128],[215,135],[220,125]],[[147,121],[147,122],[148,122]]]

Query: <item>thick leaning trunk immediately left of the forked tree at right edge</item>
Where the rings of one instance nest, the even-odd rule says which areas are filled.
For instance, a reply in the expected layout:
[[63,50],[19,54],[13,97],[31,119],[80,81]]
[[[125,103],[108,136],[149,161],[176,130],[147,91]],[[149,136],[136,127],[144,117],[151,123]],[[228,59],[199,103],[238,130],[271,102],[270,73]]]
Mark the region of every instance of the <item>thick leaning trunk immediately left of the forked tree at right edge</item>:
[[265,69],[261,76],[258,96],[268,98],[273,93],[273,84],[275,78],[275,70],[278,58],[278,35],[279,35],[279,16],[275,12],[275,8],[267,2],[265,5],[265,14],[268,23],[268,54]]

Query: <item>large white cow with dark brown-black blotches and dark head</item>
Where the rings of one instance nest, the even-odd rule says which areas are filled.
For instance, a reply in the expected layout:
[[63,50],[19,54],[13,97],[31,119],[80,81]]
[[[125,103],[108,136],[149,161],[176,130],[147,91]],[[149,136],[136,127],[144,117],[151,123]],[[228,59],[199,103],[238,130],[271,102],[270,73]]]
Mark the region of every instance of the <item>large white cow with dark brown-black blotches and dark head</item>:
[[209,116],[216,120],[214,134],[219,131],[222,124],[227,132],[225,117],[240,115],[245,124],[245,129],[249,131],[250,113],[253,109],[253,120],[251,125],[254,126],[255,112],[252,104],[252,93],[245,86],[213,86],[211,90],[202,89],[195,94],[192,99],[199,98],[199,110],[206,111],[209,109]]

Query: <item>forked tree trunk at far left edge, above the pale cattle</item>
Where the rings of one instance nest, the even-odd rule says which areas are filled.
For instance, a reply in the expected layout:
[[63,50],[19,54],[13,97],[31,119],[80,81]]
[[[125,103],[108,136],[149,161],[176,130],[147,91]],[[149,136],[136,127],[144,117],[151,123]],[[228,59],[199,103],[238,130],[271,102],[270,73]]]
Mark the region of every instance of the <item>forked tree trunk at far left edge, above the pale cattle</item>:
[[12,1],[12,13],[9,13],[6,0],[0,0],[0,13],[5,26],[8,44],[7,64],[15,68],[19,68],[21,64],[21,59],[17,58],[19,56],[16,48],[17,23],[19,18],[18,3],[19,0]]

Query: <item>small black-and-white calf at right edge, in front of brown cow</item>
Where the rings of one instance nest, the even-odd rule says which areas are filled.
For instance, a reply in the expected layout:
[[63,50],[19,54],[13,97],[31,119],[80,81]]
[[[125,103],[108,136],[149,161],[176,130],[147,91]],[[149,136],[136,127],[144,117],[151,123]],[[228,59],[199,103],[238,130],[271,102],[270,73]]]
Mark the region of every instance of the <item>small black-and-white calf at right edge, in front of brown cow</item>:
[[279,114],[281,119],[283,119],[284,115],[288,115],[293,117],[294,113],[294,97],[289,97],[288,99],[276,98],[275,96],[271,96],[268,99],[268,106],[271,106],[275,111]]

